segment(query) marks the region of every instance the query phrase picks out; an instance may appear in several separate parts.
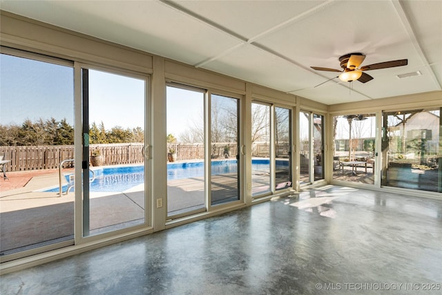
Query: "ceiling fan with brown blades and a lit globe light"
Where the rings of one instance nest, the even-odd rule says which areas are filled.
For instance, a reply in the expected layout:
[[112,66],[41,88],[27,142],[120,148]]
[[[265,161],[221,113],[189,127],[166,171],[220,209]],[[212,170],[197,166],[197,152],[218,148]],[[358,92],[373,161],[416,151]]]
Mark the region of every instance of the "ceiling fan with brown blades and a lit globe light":
[[[361,66],[361,64],[363,63],[364,59],[365,55],[363,55],[362,53],[349,53],[347,55],[339,57],[340,67],[343,68],[343,70],[335,70],[334,68],[321,68],[318,66],[311,66],[311,68],[313,68],[314,70],[325,70],[327,72],[338,72],[340,73],[340,75],[338,75],[337,77],[339,77],[339,79],[343,82],[352,82],[358,80],[359,82],[367,83],[374,78],[368,75],[367,73],[364,73],[364,71],[366,70],[394,68],[395,66],[406,66],[408,64],[408,59],[398,59],[392,61],[384,61],[378,64],[370,64],[368,66],[362,66],[361,68],[359,68],[359,66]],[[334,77],[332,79],[335,79],[337,77]],[[329,79],[326,82],[332,79]],[[324,83],[325,82],[321,84]]]

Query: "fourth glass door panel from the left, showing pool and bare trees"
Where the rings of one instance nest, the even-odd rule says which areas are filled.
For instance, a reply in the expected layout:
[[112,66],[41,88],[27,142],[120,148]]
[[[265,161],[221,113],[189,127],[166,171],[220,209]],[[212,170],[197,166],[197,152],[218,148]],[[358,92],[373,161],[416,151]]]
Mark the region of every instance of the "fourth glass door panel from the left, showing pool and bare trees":
[[239,103],[211,95],[211,205],[240,200]]

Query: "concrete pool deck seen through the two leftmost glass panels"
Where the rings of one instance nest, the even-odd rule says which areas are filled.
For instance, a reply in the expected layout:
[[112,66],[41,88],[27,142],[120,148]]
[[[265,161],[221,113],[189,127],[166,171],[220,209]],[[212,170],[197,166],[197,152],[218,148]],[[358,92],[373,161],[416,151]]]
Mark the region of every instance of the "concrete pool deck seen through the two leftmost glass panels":
[[[67,169],[64,170],[66,172]],[[73,237],[75,193],[37,190],[59,185],[57,169],[8,173],[0,180],[0,251],[26,249],[50,240]],[[66,183],[66,180],[63,180]],[[103,198],[106,196],[106,198]],[[100,231],[144,218],[143,187],[124,193],[90,194],[90,229]]]

